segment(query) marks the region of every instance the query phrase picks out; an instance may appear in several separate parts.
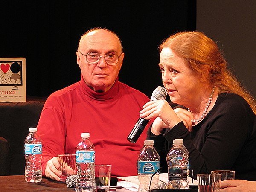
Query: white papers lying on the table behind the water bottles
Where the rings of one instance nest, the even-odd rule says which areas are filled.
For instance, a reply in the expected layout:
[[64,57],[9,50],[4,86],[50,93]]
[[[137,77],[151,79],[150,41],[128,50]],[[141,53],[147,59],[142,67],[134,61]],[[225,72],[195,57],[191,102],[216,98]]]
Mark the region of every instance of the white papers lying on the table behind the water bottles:
[[[128,181],[129,183],[126,183],[126,184],[129,184],[130,186],[134,187],[134,188],[139,188],[139,185],[140,185],[140,181],[138,179],[138,176],[128,176],[128,177],[117,177],[118,179],[121,179],[121,180],[125,180],[125,181]],[[160,182],[163,182],[163,183],[168,183],[168,173],[160,173],[159,174],[159,181]],[[122,181],[121,181],[122,182]],[[121,184],[122,183],[119,183],[117,182],[119,186],[122,186]],[[189,177],[189,185],[192,184],[192,178]],[[198,182],[196,180],[193,180],[193,185],[198,185]],[[124,188],[126,188],[125,186],[122,186]]]

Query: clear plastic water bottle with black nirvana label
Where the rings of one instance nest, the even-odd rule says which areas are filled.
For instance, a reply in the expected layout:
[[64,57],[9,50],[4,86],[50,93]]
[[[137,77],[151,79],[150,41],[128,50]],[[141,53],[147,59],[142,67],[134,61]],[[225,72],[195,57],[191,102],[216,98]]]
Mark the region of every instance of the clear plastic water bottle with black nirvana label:
[[189,189],[189,151],[183,139],[175,139],[167,155],[168,189]]

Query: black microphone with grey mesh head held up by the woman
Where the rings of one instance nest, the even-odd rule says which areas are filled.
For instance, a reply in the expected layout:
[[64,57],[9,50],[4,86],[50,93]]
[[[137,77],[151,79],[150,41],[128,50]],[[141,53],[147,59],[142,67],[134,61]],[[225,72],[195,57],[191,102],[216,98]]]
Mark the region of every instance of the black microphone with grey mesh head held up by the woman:
[[[167,90],[164,87],[158,86],[152,93],[151,101],[163,100],[166,99]],[[145,129],[145,126],[148,124],[149,120],[145,118],[139,118],[137,123],[134,125],[134,128],[131,130],[131,133],[127,137],[128,141],[131,143],[136,143],[140,134]]]

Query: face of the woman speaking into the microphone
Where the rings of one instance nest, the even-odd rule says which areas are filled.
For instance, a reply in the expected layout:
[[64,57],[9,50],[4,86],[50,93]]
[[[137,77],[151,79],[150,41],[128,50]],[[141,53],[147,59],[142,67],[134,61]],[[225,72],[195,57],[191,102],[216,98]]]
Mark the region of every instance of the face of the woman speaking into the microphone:
[[165,47],[160,53],[159,67],[163,85],[172,102],[186,107],[190,106],[191,102],[195,102],[202,89],[201,77],[198,77],[182,58]]

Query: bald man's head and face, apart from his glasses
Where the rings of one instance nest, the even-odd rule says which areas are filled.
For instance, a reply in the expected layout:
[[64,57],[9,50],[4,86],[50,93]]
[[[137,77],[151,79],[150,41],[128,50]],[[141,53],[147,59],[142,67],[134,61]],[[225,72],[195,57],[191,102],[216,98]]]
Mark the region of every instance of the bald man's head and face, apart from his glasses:
[[77,55],[77,64],[81,69],[85,83],[96,92],[105,92],[114,84],[119,70],[122,66],[124,53],[121,54],[117,64],[108,65],[105,58],[102,57],[96,64],[90,64],[86,61],[86,55],[90,52],[99,53],[101,56],[105,54],[122,53],[118,39],[106,30],[96,30],[88,33],[81,39],[79,52]]

